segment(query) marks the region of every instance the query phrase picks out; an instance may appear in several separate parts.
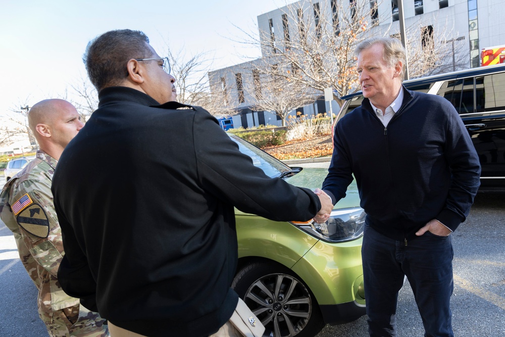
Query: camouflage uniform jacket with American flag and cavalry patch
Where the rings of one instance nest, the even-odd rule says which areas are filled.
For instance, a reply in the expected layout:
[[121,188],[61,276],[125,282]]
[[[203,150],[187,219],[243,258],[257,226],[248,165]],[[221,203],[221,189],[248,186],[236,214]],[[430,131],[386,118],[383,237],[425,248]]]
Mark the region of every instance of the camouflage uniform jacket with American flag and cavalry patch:
[[65,253],[51,192],[56,164],[56,159],[38,150],[0,194],[0,217],[14,233],[19,257],[37,286],[40,315],[79,304],[63,292],[57,279]]

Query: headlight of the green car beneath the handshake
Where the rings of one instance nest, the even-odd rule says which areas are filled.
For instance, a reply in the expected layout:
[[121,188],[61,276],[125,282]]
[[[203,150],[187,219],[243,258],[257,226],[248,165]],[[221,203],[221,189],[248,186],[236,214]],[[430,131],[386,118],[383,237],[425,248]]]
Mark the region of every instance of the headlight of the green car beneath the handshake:
[[365,211],[361,207],[342,208],[331,212],[325,223],[291,222],[308,234],[329,243],[355,240],[363,235]]

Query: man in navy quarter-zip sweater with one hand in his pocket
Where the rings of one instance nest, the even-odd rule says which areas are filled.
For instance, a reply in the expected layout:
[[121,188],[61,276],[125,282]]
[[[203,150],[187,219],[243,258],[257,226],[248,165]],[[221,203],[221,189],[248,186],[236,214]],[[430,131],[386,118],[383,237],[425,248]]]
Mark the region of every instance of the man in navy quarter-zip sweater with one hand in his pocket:
[[370,336],[396,335],[405,275],[425,336],[453,336],[450,233],[465,221],[479,187],[478,156],[447,100],[402,86],[406,51],[399,40],[373,37],[357,54],[365,99],[336,125],[323,190],[336,203],[352,174],[358,184],[367,213],[362,258]]

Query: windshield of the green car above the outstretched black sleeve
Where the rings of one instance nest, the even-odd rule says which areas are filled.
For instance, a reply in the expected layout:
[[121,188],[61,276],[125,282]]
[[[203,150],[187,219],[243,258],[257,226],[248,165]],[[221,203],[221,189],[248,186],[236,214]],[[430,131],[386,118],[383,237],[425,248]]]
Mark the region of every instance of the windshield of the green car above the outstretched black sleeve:
[[230,135],[230,138],[238,144],[240,152],[249,156],[252,160],[252,164],[261,168],[269,177],[274,178],[283,176],[284,173],[292,171],[289,166],[270,156],[265,151],[258,149],[242,138],[235,135]]

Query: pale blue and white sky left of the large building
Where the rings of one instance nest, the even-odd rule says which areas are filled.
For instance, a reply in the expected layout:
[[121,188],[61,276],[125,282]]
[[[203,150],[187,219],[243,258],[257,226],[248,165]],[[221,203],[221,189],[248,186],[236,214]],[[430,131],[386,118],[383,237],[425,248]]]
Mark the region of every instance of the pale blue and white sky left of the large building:
[[[288,1],[290,3],[291,1]],[[0,16],[0,117],[25,102],[63,95],[86,77],[82,54],[88,41],[112,29],[141,30],[161,55],[164,39],[188,55],[210,52],[219,69],[259,57],[233,40],[254,32],[257,16],[285,0],[2,0]],[[70,93],[70,90],[69,90]]]

